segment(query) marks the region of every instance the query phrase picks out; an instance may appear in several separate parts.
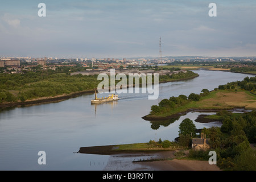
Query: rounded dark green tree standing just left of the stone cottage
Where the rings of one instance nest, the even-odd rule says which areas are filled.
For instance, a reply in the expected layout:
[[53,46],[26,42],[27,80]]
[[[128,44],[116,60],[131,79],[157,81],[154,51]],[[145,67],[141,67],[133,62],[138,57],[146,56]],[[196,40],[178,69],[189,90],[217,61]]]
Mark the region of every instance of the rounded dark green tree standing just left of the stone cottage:
[[196,136],[196,125],[189,118],[183,119],[179,125],[179,135]]

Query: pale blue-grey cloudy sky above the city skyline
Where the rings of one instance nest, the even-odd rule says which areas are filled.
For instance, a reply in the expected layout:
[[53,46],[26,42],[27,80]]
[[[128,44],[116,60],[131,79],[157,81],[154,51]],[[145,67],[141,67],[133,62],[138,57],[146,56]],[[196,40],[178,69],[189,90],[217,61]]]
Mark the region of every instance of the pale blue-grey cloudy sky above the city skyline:
[[256,56],[256,1],[1,1],[0,56],[158,57],[160,36],[162,56]]

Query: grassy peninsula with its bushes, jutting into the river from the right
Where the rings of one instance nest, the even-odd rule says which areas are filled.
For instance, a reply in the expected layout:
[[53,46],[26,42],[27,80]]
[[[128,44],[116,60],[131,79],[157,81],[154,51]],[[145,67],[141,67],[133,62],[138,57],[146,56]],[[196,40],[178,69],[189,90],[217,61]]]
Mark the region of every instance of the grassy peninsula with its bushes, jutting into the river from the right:
[[[248,80],[249,79],[249,80]],[[247,80],[247,81],[246,81]],[[143,117],[146,120],[168,119],[177,117],[190,110],[227,110],[234,108],[256,109],[255,78],[245,78],[241,82],[220,85],[209,92],[191,93],[188,97],[170,97],[151,106],[150,114]]]

